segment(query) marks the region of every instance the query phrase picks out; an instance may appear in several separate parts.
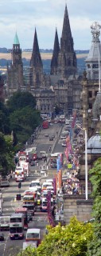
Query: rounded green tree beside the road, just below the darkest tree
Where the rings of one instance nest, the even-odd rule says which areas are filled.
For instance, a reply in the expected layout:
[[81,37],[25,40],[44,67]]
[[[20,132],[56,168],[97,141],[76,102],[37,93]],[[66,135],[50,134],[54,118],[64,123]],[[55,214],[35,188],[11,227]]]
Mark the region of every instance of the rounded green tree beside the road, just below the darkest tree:
[[25,143],[33,130],[41,124],[41,115],[30,106],[15,110],[10,114],[10,130],[17,136],[17,141]]

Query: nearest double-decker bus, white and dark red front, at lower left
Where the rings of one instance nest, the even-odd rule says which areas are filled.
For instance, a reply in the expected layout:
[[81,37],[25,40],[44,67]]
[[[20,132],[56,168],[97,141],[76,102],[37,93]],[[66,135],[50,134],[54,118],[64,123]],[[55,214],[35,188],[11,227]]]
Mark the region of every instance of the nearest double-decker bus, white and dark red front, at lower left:
[[24,215],[12,214],[10,216],[10,239],[24,238]]

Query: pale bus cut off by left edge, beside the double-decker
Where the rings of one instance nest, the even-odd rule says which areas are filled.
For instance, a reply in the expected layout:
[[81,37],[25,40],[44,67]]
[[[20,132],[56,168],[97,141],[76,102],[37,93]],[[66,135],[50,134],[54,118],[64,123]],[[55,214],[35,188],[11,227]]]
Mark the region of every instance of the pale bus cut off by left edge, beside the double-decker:
[[0,216],[0,231],[10,230],[10,216]]

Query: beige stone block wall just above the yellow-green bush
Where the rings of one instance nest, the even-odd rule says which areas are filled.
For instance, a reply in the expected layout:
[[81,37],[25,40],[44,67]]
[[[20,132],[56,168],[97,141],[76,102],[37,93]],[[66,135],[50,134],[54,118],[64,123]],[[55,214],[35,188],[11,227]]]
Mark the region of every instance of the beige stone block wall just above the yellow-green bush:
[[85,222],[91,219],[93,199],[85,200],[84,196],[64,195],[64,222],[68,224],[72,216]]

